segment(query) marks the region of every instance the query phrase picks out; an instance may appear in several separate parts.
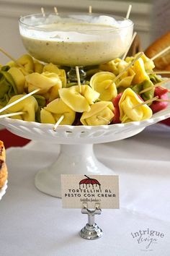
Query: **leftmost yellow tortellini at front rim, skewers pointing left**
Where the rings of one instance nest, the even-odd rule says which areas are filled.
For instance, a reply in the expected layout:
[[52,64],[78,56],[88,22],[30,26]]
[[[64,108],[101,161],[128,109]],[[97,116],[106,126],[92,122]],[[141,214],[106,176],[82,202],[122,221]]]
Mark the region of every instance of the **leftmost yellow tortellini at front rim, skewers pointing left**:
[[[9,103],[7,105],[13,103],[14,101],[17,101],[19,98],[22,98],[23,96],[23,94],[14,95],[12,98],[10,98]],[[14,106],[10,106],[6,109],[5,113],[2,112],[1,114],[9,114],[23,111],[24,114],[18,116],[11,116],[11,118],[21,119],[24,121],[35,121],[35,112],[37,111],[37,108],[37,101],[32,95],[30,95],[28,98],[25,98],[19,103],[16,103]]]

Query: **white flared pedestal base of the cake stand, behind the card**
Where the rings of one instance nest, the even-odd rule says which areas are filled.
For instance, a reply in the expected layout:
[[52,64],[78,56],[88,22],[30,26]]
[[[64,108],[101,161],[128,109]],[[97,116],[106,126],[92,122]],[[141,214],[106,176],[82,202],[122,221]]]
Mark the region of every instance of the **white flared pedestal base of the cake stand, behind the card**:
[[93,144],[61,145],[61,152],[52,166],[35,176],[35,187],[45,194],[61,197],[61,174],[113,175],[112,169],[100,163]]

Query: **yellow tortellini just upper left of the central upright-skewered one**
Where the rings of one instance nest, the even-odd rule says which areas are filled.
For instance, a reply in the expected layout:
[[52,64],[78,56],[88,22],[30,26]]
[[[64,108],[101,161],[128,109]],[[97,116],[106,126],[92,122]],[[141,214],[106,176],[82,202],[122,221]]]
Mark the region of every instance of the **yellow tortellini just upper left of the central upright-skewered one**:
[[43,72],[42,74],[34,72],[28,74],[25,80],[27,82],[28,93],[39,88],[40,91],[37,94],[44,96],[48,101],[58,98],[58,90],[62,87],[62,82],[58,74],[50,72]]

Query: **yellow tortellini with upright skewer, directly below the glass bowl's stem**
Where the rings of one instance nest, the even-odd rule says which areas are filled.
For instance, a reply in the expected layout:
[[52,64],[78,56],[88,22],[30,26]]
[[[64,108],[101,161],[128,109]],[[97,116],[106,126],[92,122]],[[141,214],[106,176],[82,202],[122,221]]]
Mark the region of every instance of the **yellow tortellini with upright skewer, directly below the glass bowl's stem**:
[[67,106],[79,113],[90,111],[90,105],[99,98],[99,93],[91,89],[89,85],[81,85],[81,92],[79,85],[61,88],[59,95]]

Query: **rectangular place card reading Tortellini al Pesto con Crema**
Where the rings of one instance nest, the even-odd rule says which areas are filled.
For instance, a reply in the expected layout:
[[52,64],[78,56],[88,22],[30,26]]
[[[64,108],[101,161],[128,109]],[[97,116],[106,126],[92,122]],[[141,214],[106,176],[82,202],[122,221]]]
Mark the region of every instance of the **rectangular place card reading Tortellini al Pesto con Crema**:
[[102,209],[119,208],[119,177],[117,175],[61,175],[63,208],[89,209],[96,204]]

